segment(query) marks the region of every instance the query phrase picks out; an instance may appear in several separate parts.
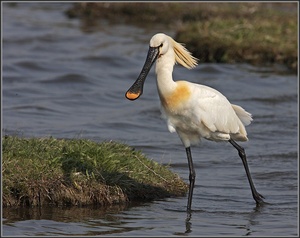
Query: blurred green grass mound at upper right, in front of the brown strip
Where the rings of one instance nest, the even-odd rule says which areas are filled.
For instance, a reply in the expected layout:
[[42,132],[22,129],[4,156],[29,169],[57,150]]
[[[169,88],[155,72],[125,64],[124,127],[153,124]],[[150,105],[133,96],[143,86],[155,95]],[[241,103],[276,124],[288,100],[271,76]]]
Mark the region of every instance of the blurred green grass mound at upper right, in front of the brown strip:
[[255,65],[283,64],[297,67],[296,15],[262,9],[251,16],[229,15],[196,21],[178,29],[200,62],[247,62]]

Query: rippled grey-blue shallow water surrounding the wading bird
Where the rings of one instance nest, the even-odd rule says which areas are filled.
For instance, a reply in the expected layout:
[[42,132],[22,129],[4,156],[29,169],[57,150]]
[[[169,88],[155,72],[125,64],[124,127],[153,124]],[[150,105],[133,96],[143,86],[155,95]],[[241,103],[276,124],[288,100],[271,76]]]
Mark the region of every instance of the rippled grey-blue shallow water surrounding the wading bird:
[[[88,26],[64,16],[69,6],[3,4],[3,133],[125,142],[188,182],[185,150],[160,117],[154,70],[139,100],[124,97],[151,36],[173,33],[105,21]],[[176,66],[174,78],[214,87],[253,114],[249,142],[241,145],[268,204],[255,206],[229,143],[203,141],[192,147],[197,177],[190,223],[182,197],[105,209],[4,209],[2,234],[296,236],[297,77],[247,64],[199,64],[190,71]]]

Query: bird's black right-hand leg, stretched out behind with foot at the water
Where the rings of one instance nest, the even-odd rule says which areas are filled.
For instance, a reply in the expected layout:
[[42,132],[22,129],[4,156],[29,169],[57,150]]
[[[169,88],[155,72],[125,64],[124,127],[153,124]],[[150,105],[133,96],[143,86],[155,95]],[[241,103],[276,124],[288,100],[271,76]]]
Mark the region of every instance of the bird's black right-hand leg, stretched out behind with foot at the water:
[[234,146],[234,148],[236,148],[239,152],[239,156],[243,161],[244,164],[244,168],[246,170],[246,174],[247,174],[247,178],[251,187],[251,192],[252,192],[252,196],[254,198],[254,200],[256,201],[256,204],[259,205],[261,203],[263,203],[263,196],[261,194],[259,194],[254,186],[254,183],[252,181],[251,175],[250,175],[250,170],[248,167],[248,163],[247,163],[247,159],[246,159],[246,153],[243,147],[241,147],[240,145],[238,145],[234,140],[230,139],[228,140],[230,142],[230,144],[232,144]]

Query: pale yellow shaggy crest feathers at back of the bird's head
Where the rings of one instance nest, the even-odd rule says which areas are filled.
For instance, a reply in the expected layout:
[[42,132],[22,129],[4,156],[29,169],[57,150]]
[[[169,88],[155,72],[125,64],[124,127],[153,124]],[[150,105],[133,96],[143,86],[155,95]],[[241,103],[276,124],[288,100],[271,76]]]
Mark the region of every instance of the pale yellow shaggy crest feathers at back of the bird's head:
[[197,58],[192,56],[192,53],[189,52],[182,44],[176,42],[171,37],[171,43],[175,52],[175,61],[182,66],[192,69],[197,65]]

